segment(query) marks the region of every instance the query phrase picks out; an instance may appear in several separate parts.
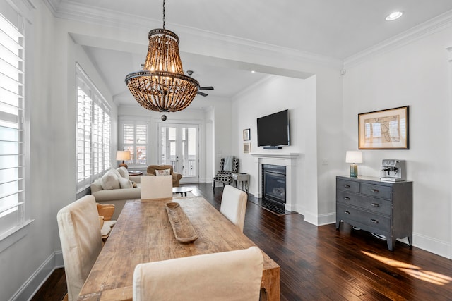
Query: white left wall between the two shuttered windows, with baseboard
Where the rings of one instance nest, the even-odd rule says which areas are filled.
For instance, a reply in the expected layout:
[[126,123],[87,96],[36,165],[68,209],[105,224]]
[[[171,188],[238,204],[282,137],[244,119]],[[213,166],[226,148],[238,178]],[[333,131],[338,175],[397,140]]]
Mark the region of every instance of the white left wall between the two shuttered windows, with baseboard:
[[[20,1],[16,1],[20,3]],[[107,101],[112,97],[81,47],[42,1],[26,32],[25,109],[30,113],[28,233],[0,252],[0,300],[26,300],[61,265],[57,211],[76,199],[76,80],[79,61]],[[3,10],[3,6],[0,6]],[[116,114],[113,108],[112,114]],[[113,116],[113,123],[115,118]]]

